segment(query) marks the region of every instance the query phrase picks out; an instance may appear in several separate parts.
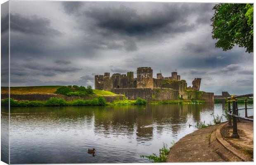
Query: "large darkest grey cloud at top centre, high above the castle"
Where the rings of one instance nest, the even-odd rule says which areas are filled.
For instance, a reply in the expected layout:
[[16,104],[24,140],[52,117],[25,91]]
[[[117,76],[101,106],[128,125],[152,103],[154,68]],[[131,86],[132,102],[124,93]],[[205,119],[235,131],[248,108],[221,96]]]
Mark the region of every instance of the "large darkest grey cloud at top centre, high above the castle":
[[85,15],[92,18],[96,26],[123,35],[145,35],[159,30],[164,32],[167,30],[166,26],[168,27],[166,33],[191,31],[191,26],[185,24],[188,12],[175,6],[152,11],[149,14],[138,14],[135,9],[123,5],[92,7],[85,11]]

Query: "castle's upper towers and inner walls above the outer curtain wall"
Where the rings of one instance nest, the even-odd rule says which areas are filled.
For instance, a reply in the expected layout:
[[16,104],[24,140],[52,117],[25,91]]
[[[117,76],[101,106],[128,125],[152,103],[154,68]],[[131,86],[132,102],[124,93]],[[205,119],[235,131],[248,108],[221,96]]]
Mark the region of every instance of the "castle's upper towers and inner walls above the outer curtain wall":
[[104,75],[95,75],[95,89],[107,90],[119,88],[171,88],[178,90],[179,87],[189,90],[199,90],[201,78],[195,78],[192,82],[193,87],[187,88],[185,80],[180,80],[177,72],[172,72],[171,77],[163,77],[162,73],[157,73],[153,78],[153,70],[150,67],[137,68],[137,78],[134,78],[133,72],[127,74],[110,73]]

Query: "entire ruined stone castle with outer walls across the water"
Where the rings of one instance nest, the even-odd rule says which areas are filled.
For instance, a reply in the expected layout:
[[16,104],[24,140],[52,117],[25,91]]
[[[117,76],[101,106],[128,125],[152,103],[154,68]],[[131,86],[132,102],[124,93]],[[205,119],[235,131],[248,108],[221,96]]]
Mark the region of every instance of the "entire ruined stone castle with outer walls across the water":
[[[126,94],[128,99],[141,97],[143,99],[153,100],[156,96],[161,100],[191,99],[191,91],[199,91],[200,84],[201,78],[195,78],[192,82],[193,86],[187,87],[186,80],[180,80],[180,75],[176,71],[171,73],[171,77],[164,77],[162,73],[157,73],[156,78],[153,78],[151,67],[137,68],[136,78],[134,78],[133,72],[127,72],[127,74],[114,73],[111,76],[110,73],[95,75],[95,90]],[[159,90],[165,92],[156,92]],[[210,95],[213,98],[213,93]]]

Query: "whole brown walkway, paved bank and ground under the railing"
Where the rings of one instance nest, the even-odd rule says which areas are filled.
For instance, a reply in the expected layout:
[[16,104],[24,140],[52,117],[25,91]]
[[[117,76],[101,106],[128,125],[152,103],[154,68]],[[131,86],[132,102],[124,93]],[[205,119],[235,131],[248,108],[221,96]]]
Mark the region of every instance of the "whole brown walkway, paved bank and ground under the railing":
[[[231,139],[233,142],[232,145],[230,144],[230,141],[227,141],[227,139],[230,140],[230,138],[226,137],[226,135],[229,136],[230,134],[221,135],[221,132],[228,131],[230,133],[230,129],[232,130],[232,128],[225,130],[227,123],[228,122],[212,125],[204,129],[199,129],[191,134],[187,134],[173,146],[166,162],[253,161],[247,154],[242,153],[239,148],[234,147],[234,144],[241,147],[239,143],[244,144],[244,141],[246,141],[246,144],[253,144],[253,136],[247,135],[245,137],[244,135],[246,134],[246,131],[242,130],[246,127],[247,132],[252,132],[253,122],[238,123],[237,127],[240,139]],[[240,142],[236,143],[234,141]],[[249,147],[247,146],[247,149]]]

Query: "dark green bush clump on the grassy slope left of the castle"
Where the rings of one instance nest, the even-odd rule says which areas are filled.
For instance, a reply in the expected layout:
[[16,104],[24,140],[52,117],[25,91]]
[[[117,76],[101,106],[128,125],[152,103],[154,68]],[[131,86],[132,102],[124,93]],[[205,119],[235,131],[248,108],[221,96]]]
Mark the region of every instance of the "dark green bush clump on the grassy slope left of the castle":
[[56,92],[56,94],[63,94],[67,96],[83,96],[88,94],[93,94],[92,86],[87,86],[85,88],[84,86],[78,87],[77,85],[68,85],[68,86],[62,86],[59,87]]

